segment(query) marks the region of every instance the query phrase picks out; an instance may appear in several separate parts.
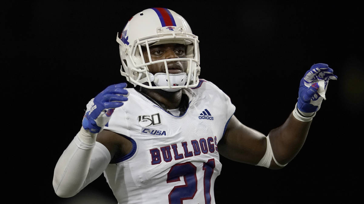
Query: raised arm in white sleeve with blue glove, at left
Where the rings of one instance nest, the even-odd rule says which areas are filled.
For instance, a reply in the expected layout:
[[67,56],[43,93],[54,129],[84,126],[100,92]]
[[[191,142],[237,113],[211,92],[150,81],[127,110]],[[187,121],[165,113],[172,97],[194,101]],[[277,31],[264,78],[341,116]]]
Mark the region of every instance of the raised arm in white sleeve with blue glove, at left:
[[98,178],[111,160],[108,149],[96,142],[96,136],[116,107],[127,101],[126,83],[108,86],[99,93],[85,114],[82,127],[60,156],[53,176],[53,187],[60,197],[76,195]]

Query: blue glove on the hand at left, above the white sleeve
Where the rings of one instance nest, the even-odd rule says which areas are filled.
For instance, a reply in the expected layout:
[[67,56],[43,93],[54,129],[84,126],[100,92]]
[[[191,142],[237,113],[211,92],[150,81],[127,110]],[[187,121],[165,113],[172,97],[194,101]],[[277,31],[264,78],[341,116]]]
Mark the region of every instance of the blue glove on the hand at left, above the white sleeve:
[[92,133],[98,133],[110,120],[114,109],[122,106],[122,101],[127,101],[128,91],[124,89],[126,83],[118,83],[108,86],[94,98],[91,109],[88,111],[82,121],[85,130]]

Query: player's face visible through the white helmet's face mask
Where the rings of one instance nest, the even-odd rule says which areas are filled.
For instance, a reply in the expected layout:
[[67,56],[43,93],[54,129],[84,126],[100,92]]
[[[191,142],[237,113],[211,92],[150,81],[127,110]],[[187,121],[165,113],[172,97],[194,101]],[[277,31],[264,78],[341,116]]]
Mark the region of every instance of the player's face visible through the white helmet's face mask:
[[[186,46],[182,44],[161,44],[154,45],[149,47],[150,56],[152,61],[157,60],[165,60],[171,58],[186,58]],[[143,48],[143,56],[145,62],[149,62],[147,49]],[[170,74],[178,74],[182,72],[186,72],[187,70],[187,61],[170,61],[167,62],[168,72]],[[164,63],[157,63],[148,65],[149,72],[152,74],[162,72],[166,73],[166,69]]]

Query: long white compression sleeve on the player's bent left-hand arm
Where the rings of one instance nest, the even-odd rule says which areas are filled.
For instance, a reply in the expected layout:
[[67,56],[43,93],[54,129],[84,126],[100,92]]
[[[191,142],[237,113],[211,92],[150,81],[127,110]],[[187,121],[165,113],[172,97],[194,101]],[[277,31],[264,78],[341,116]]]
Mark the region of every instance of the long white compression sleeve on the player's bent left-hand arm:
[[53,188],[59,197],[71,197],[98,178],[110,163],[111,156],[103,144],[86,144],[81,128],[60,156],[53,175]]

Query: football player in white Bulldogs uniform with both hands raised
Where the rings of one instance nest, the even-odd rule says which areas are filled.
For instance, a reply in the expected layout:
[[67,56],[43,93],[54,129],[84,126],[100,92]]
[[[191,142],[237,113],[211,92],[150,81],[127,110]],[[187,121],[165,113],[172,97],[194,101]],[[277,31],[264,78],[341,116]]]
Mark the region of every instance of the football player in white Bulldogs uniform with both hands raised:
[[120,72],[134,88],[108,86],[87,104],[54,170],[60,197],[76,195],[104,173],[119,203],[215,203],[219,154],[283,168],[304,144],[329,79],[337,79],[327,64],[314,64],[292,114],[265,136],[238,121],[223,91],[198,78],[199,40],[182,16],[146,9],[116,41]]

